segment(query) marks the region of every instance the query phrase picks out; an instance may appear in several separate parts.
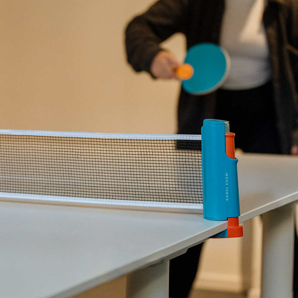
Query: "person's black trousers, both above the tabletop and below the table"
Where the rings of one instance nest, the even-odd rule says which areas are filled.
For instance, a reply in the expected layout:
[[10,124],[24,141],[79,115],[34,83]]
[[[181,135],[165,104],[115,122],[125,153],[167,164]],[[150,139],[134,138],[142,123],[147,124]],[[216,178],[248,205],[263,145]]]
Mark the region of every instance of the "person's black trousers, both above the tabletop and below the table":
[[[199,100],[199,99],[198,99]],[[280,154],[271,83],[240,91],[218,90],[216,119],[230,122],[235,147],[249,153]],[[298,239],[295,233],[294,298],[298,298]],[[203,243],[170,261],[171,298],[187,298],[195,279]]]

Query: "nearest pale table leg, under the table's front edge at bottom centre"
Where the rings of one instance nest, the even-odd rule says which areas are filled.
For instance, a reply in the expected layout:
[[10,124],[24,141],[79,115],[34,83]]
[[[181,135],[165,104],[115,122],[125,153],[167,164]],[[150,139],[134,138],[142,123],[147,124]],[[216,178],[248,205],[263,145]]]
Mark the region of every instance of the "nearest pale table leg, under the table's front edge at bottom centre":
[[169,261],[127,275],[126,298],[168,298]]

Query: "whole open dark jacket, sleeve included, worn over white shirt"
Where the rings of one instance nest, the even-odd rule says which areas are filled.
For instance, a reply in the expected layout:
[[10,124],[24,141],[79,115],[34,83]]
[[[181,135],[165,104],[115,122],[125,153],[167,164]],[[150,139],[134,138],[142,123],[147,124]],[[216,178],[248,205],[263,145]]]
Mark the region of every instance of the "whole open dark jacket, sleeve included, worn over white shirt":
[[[160,43],[174,33],[186,36],[187,49],[201,42],[219,43],[224,0],[160,0],[126,28],[128,62],[150,73]],[[269,0],[263,22],[267,34],[277,126],[282,152],[298,145],[298,1]],[[215,117],[216,91],[202,96],[181,89],[178,133],[200,134],[203,120]]]

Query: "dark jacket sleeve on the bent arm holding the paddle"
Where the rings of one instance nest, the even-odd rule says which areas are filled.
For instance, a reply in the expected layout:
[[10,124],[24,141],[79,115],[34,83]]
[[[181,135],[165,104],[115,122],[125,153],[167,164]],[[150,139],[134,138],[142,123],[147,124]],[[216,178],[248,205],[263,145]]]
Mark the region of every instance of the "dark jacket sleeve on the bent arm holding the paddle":
[[187,0],[159,0],[126,27],[125,46],[128,63],[137,72],[147,71],[160,43],[176,32],[185,32]]

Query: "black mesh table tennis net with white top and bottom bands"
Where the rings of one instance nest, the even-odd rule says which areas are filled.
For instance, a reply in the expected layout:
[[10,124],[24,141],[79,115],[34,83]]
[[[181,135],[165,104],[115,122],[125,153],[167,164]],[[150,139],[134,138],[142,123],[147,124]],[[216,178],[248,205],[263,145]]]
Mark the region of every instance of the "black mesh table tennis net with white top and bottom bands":
[[200,135],[0,130],[0,197],[202,209]]

